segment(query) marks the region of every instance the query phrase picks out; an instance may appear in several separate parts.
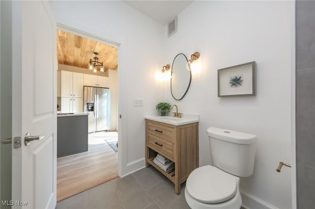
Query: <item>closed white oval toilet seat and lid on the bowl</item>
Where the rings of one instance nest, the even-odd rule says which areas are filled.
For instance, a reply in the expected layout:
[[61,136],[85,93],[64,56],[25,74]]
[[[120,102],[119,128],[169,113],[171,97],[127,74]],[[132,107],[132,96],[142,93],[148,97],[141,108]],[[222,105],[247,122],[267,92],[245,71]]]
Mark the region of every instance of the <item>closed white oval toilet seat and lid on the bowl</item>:
[[206,165],[193,170],[186,182],[189,195],[201,203],[216,204],[237,193],[236,178],[217,167]]

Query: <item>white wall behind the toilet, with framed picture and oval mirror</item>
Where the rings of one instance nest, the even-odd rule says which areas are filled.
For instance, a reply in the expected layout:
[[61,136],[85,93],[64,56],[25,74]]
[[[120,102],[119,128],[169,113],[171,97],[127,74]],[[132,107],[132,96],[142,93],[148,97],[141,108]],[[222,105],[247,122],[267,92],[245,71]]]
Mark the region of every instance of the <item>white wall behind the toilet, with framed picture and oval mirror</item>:
[[[201,53],[202,70],[192,75],[188,93],[175,101],[165,86],[164,100],[179,111],[200,114],[200,166],[211,164],[207,128],[258,136],[254,173],[241,189],[278,208],[291,208],[290,162],[291,2],[194,1],[178,15],[178,30],[167,38],[163,63],[176,54]],[[218,98],[217,70],[256,61],[257,96]]]

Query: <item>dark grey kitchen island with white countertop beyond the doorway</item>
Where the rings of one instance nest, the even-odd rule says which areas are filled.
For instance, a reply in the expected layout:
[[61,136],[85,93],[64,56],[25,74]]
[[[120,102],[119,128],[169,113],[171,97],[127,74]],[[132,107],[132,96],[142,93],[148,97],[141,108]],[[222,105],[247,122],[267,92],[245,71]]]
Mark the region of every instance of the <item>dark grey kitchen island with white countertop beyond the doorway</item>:
[[88,113],[57,114],[57,157],[88,151]]

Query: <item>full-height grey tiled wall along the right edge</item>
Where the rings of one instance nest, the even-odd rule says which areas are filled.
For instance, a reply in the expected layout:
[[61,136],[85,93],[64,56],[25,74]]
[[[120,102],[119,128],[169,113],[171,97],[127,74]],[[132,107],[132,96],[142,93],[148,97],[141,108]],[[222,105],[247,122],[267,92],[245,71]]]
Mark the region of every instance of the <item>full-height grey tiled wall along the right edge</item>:
[[315,1],[296,1],[297,208],[315,208]]

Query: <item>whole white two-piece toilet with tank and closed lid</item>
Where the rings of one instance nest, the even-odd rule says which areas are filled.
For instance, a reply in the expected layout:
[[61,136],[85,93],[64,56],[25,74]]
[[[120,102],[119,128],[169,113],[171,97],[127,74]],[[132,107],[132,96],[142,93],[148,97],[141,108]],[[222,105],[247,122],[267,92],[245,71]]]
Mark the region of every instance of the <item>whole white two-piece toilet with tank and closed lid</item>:
[[257,138],[213,127],[207,132],[214,166],[202,166],[190,173],[186,201],[192,209],[239,209],[239,177],[252,175]]

